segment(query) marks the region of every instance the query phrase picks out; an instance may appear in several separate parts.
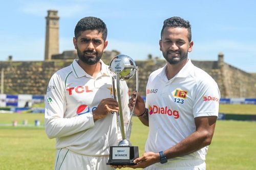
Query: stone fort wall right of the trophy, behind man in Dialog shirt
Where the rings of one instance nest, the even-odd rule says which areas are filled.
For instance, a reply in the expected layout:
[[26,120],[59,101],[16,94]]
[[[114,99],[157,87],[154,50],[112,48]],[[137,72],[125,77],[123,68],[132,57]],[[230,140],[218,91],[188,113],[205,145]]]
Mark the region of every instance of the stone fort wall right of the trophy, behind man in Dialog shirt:
[[[165,65],[165,60],[135,61],[139,67],[139,91],[145,95],[147,78],[152,71]],[[256,76],[227,63],[219,61],[194,61],[192,63],[206,71],[217,82],[221,98],[256,98]],[[127,81],[136,89],[135,78]]]

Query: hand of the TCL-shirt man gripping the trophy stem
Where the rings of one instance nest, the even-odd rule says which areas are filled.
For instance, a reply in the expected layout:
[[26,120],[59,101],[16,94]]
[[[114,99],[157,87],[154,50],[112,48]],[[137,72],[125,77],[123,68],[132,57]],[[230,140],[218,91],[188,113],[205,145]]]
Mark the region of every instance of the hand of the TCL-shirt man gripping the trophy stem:
[[97,109],[93,111],[93,120],[94,122],[98,119],[104,118],[111,112],[118,112],[119,107],[115,99],[107,98],[100,101]]

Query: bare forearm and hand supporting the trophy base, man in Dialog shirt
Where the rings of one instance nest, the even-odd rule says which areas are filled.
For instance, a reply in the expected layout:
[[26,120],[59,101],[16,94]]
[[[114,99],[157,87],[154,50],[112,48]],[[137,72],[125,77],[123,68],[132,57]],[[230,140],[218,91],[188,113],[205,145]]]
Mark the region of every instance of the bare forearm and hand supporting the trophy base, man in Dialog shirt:
[[[167,159],[172,159],[190,154],[209,145],[214,135],[216,120],[217,116],[196,117],[196,131],[172,148],[165,150],[164,155]],[[160,162],[159,153],[146,152],[134,160],[134,163],[138,163],[137,165],[127,167],[144,168],[157,162]]]

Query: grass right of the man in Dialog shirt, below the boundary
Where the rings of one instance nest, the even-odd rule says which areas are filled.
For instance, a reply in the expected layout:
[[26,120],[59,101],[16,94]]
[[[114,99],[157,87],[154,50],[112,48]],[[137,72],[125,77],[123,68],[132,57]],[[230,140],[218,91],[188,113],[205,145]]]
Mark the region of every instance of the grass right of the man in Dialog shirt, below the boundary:
[[256,122],[218,120],[207,169],[255,169]]

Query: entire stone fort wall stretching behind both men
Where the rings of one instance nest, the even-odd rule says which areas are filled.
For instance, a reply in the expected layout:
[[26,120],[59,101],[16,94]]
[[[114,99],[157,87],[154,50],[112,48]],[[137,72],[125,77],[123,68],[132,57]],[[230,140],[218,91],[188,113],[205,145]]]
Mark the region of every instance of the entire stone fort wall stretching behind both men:
[[[110,59],[103,57],[102,60],[106,64],[110,61]],[[45,94],[48,82],[54,72],[70,65],[72,61],[2,61],[0,62],[0,71],[4,68],[4,93]],[[141,95],[145,95],[148,76],[152,71],[164,66],[165,60],[148,59],[135,62],[139,68],[139,91]],[[224,63],[220,56],[218,61],[192,62],[215,79],[219,85],[222,98],[256,98],[255,74],[249,74]],[[127,81],[131,91],[136,89],[135,79],[136,76]]]

